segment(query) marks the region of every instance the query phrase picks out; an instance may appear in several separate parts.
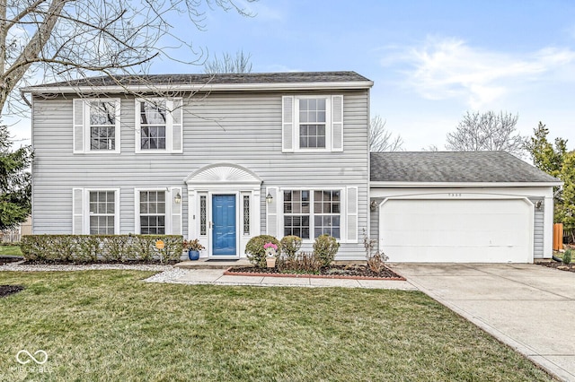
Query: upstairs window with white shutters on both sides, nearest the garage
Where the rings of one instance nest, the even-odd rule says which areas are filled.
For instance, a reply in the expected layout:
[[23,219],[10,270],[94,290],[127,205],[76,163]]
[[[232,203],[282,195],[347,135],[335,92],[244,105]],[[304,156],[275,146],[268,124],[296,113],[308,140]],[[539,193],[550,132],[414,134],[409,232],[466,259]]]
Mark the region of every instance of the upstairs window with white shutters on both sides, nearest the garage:
[[282,152],[342,152],[343,96],[284,96]]

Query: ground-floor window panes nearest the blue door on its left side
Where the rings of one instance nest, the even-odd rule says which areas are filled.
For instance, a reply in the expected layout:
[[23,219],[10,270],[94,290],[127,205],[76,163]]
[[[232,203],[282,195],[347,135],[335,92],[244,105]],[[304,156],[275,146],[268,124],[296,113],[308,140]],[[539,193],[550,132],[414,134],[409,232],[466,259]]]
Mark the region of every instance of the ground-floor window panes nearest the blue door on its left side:
[[165,192],[140,191],[140,234],[164,235],[165,230]]

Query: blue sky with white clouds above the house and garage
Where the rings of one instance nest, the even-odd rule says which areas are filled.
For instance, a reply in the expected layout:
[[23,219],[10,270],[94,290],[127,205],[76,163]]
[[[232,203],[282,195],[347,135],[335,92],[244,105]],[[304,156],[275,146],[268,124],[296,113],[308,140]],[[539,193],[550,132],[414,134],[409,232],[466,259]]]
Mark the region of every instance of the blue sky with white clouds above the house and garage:
[[[241,0],[242,1],[242,0]],[[242,4],[241,2],[239,4]],[[353,70],[375,82],[371,114],[403,148],[444,148],[467,110],[539,121],[575,148],[575,2],[572,0],[261,0],[254,17],[208,10],[205,30],[173,20],[210,55],[252,55],[252,72]],[[186,50],[171,55],[189,60]],[[158,60],[152,73],[201,73]],[[29,125],[29,124],[28,124]],[[18,135],[30,136],[29,129]]]

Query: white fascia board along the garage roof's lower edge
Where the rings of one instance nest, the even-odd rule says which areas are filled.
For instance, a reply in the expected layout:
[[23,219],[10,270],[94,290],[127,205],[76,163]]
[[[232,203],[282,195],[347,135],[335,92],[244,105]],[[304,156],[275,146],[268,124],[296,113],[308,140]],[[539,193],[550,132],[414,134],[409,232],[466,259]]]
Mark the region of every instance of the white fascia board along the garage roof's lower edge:
[[559,187],[563,182],[374,182],[370,188]]

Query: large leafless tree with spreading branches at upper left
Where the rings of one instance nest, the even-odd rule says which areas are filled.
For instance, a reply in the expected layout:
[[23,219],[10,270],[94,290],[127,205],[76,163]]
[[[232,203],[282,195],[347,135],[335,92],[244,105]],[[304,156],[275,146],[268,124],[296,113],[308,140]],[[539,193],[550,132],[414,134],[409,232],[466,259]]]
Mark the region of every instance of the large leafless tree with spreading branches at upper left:
[[203,49],[194,50],[189,31],[176,32],[168,18],[187,14],[203,30],[206,13],[216,7],[250,15],[234,1],[0,0],[0,109],[17,111],[4,106],[34,76],[139,75],[156,57],[176,60],[172,53],[181,48],[190,59],[178,61],[199,64]]

